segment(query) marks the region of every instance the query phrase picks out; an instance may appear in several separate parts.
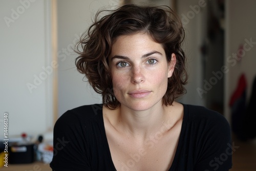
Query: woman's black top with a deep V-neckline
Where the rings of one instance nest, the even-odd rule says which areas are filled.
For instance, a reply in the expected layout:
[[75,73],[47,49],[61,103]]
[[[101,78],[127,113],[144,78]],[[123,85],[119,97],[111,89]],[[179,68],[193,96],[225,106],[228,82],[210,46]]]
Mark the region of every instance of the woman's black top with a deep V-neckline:
[[[183,106],[181,134],[169,171],[231,168],[233,152],[227,120],[202,106]],[[53,143],[53,170],[116,170],[106,139],[102,104],[80,106],[60,116],[54,126]]]

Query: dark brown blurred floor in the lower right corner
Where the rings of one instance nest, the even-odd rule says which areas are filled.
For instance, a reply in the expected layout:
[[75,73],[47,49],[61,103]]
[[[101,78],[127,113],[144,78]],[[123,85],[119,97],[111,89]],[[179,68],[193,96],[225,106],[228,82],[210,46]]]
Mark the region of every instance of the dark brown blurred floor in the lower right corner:
[[230,171],[256,171],[256,139],[241,141],[232,136],[233,145],[239,146],[233,153]]

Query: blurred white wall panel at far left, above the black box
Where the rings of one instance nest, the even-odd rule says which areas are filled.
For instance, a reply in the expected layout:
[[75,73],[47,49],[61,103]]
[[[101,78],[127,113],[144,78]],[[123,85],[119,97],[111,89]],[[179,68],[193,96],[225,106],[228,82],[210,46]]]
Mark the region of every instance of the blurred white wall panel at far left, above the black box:
[[52,129],[50,9],[48,0],[0,2],[0,137],[5,112],[9,137]]

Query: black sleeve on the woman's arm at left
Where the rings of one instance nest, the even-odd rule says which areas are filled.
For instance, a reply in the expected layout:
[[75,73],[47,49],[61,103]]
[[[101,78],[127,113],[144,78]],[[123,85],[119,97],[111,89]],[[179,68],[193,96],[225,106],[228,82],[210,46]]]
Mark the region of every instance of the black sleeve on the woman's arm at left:
[[55,171],[91,170],[87,154],[84,126],[80,118],[67,111],[54,125],[54,154],[50,166]]

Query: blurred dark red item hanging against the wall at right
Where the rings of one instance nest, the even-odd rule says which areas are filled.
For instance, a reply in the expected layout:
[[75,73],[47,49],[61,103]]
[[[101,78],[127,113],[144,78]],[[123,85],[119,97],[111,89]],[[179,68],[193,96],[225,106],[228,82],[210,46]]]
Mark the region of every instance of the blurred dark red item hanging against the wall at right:
[[230,98],[229,106],[232,106],[234,104],[234,102],[242,96],[246,87],[247,87],[247,83],[246,83],[245,75],[241,74],[239,81],[238,81],[237,89],[236,89],[236,91],[234,91],[234,93],[232,94],[232,96]]

